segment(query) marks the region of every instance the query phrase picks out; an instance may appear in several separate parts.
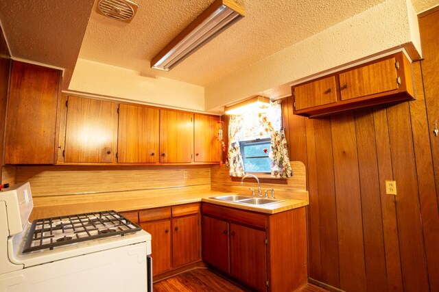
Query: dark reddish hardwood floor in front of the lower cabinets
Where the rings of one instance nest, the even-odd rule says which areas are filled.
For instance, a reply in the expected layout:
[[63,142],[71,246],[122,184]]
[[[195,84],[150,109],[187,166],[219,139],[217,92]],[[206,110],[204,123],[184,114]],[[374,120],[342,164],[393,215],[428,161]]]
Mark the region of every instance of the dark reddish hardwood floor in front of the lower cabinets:
[[[154,283],[154,292],[195,292],[195,291],[248,291],[237,284],[205,268],[191,269],[177,276]],[[300,292],[326,292],[320,287],[307,284]]]

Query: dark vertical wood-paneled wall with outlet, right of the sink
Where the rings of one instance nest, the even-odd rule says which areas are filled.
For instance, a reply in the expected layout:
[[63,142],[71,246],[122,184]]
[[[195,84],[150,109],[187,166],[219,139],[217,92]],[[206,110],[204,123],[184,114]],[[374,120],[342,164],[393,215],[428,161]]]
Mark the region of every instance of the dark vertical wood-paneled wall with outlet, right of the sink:
[[344,291],[439,291],[439,9],[419,25],[416,101],[316,119],[283,102],[290,157],[307,166],[309,278]]

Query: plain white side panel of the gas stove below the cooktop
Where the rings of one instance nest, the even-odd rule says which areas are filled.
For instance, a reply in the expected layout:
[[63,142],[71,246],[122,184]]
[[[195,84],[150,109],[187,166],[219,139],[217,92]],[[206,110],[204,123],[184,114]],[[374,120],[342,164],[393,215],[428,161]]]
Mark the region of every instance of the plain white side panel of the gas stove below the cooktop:
[[0,291],[147,291],[147,243],[64,258],[0,275]]

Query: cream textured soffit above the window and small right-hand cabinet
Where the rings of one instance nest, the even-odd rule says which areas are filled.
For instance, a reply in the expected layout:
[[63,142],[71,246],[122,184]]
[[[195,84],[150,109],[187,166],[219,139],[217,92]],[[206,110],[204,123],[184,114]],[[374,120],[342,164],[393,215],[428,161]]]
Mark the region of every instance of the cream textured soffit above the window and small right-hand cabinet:
[[206,110],[276,89],[382,51],[406,47],[419,57],[418,23],[410,0],[388,0],[206,86]]

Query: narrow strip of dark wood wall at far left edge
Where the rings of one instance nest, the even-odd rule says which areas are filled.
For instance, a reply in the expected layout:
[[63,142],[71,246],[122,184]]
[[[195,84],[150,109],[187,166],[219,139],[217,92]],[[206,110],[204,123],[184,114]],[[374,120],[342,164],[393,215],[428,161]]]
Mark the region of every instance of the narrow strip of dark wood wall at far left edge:
[[[3,139],[5,133],[6,101],[8,100],[8,86],[11,68],[10,56],[8,45],[6,44],[3,31],[0,27],[0,153],[3,153],[4,146]],[[3,157],[3,154],[1,156]]]

